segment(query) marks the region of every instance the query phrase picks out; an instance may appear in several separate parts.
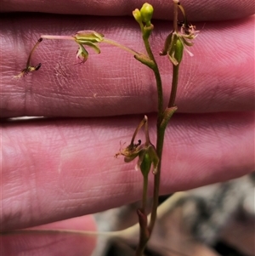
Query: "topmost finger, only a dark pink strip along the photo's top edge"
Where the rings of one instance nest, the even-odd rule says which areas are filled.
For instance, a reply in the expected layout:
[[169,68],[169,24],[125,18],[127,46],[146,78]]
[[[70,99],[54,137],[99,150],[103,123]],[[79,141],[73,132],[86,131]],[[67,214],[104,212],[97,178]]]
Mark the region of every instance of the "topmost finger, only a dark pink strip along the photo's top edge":
[[[182,3],[182,1],[180,1]],[[144,1],[4,1],[2,12],[38,12],[55,14],[88,14],[88,15],[131,15],[133,9],[140,9]],[[151,0],[155,8],[156,19],[171,20],[173,1]],[[254,14],[253,0],[234,1],[184,1],[184,7],[191,20],[232,20]]]

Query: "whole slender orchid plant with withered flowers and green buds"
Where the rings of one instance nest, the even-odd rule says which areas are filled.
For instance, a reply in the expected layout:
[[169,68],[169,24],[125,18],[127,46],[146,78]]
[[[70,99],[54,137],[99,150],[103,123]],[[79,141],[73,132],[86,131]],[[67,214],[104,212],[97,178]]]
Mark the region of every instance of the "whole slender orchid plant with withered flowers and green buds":
[[[31,56],[38,47],[42,40],[53,39],[53,40],[71,40],[77,43],[78,49],[76,57],[80,60],[81,64],[88,60],[88,50],[87,48],[93,48],[95,53],[100,54],[99,45],[101,43],[108,43],[113,46],[122,48],[128,53],[132,54],[136,60],[139,60],[143,65],[148,66],[153,72],[156,79],[157,88],[157,122],[156,122],[156,145],[153,145],[150,141],[149,135],[149,122],[148,117],[144,116],[143,120],[139,123],[138,127],[135,129],[133,137],[130,144],[125,148],[121,148],[119,152],[116,153],[116,157],[124,156],[125,162],[131,162],[135,158],[138,158],[136,169],[141,171],[144,178],[144,187],[142,195],[142,205],[141,208],[137,210],[139,216],[139,244],[136,250],[136,256],[143,255],[146,243],[150,239],[153,227],[156,221],[156,213],[158,207],[158,196],[160,188],[161,179],[161,156],[164,143],[165,130],[167,128],[167,123],[170,121],[173,113],[177,111],[177,106],[175,105],[175,99],[178,88],[178,71],[179,65],[183,58],[184,49],[193,45],[193,39],[197,36],[195,31],[195,26],[192,26],[187,20],[184,7],[178,2],[178,0],[173,0],[174,12],[173,12],[173,31],[170,31],[165,43],[163,44],[162,50],[159,53],[161,56],[167,56],[167,59],[173,65],[173,80],[172,89],[169,95],[169,100],[167,103],[167,108],[163,108],[163,90],[161,82],[161,74],[155,59],[155,56],[150,48],[150,35],[154,29],[151,19],[153,16],[153,7],[149,3],[144,3],[141,9],[135,9],[133,11],[133,17],[139,24],[139,29],[141,31],[142,39],[144,41],[144,48],[146,54],[139,53],[132,48],[127,48],[121,43],[113,41],[105,35],[97,31],[78,31],[73,36],[54,36],[54,35],[42,35],[35,46],[31,49],[31,53],[28,56],[26,62],[26,67],[20,72],[16,78],[24,77],[28,73],[38,71],[41,67],[41,63],[37,65],[31,65]],[[182,20],[178,20],[178,14],[181,14]],[[136,136],[144,128],[144,143],[140,139],[137,141]],[[147,205],[147,188],[148,188],[148,177],[150,174],[150,169],[152,168],[152,174],[154,175],[154,193],[153,193],[153,204],[151,208],[150,221],[148,223],[147,213],[145,208]]]

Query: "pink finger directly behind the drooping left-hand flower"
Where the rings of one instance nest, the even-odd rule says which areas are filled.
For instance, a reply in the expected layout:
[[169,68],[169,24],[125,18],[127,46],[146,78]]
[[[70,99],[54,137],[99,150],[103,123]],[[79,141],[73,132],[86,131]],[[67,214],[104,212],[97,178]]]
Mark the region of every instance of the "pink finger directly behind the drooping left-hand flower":
[[[73,35],[81,29],[103,32],[127,47],[144,52],[139,28],[131,19],[46,16],[3,19],[1,116],[94,117],[156,111],[156,82],[152,71],[120,48],[100,44],[77,65],[77,44],[44,40],[32,63],[39,71],[11,79],[26,65],[32,45],[42,33]],[[52,26],[54,24],[54,26]],[[38,26],[39,25],[39,26]],[[198,24],[201,34],[184,54],[176,104],[181,112],[254,110],[254,17],[222,23]],[[169,22],[155,24],[150,40],[161,71],[165,102],[172,81],[172,65],[159,53]],[[13,33],[10,31],[17,31]],[[59,32],[61,31],[61,32]],[[31,33],[33,37],[31,37]]]

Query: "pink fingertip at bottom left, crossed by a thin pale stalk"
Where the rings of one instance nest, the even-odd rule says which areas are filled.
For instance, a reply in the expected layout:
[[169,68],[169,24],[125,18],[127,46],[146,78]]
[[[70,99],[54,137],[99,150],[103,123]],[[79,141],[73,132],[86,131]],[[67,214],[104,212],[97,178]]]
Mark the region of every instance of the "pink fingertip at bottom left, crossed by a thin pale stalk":
[[[48,225],[52,229],[95,230],[94,219],[83,216],[77,219],[68,219],[58,224]],[[5,234],[1,239],[2,255],[16,256],[23,254],[32,255],[91,255],[96,246],[96,236],[81,234],[68,234],[61,232],[17,232]]]

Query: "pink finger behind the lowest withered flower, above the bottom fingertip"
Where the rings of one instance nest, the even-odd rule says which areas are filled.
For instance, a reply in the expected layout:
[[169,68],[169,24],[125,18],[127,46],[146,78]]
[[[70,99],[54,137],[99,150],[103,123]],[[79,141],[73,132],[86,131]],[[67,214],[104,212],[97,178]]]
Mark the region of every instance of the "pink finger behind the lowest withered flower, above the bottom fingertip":
[[[120,141],[128,145],[139,121],[129,116],[3,124],[2,229],[42,225],[139,200],[143,182],[134,170],[136,160],[125,163],[121,156],[113,157]],[[152,142],[155,124],[149,117]],[[143,143],[144,135],[136,139]],[[173,117],[162,156],[162,194],[253,170],[253,113]]]

